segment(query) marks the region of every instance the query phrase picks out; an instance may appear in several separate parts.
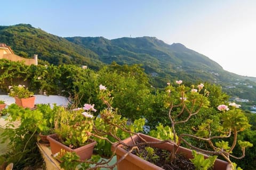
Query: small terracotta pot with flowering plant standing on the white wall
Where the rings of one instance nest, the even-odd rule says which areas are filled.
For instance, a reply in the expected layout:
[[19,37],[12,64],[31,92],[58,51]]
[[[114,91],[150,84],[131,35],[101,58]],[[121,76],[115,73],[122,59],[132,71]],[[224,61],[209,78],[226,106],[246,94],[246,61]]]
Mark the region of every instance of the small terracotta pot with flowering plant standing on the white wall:
[[9,86],[9,96],[14,97],[15,104],[23,108],[33,108],[35,106],[34,93],[25,88],[25,85]]

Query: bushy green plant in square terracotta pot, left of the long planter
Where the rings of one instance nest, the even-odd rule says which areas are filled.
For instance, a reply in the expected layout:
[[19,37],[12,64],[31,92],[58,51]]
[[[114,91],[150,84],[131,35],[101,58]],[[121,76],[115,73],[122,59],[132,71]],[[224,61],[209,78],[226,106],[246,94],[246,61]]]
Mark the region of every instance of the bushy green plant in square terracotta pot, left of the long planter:
[[[59,107],[55,116],[55,134],[48,135],[52,154],[60,158],[68,152],[76,152],[80,160],[90,159],[97,142],[90,139],[93,128],[94,105],[67,110]],[[64,150],[64,151],[61,151]]]

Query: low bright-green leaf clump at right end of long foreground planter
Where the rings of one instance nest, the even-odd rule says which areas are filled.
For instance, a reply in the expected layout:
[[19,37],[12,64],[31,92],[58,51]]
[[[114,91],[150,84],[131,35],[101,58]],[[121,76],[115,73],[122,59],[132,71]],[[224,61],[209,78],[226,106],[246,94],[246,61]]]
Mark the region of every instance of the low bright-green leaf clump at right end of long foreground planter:
[[195,150],[192,150],[194,156],[190,161],[195,165],[196,170],[207,170],[214,165],[215,160],[218,156],[209,156],[209,158],[204,158],[204,155],[197,154]]

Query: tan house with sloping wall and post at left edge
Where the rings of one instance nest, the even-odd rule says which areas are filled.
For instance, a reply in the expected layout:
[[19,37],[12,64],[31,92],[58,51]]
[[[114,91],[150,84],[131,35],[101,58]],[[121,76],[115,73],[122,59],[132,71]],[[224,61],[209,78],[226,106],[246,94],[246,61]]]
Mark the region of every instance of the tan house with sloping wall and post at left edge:
[[7,59],[10,61],[24,61],[26,65],[35,64],[37,65],[37,55],[34,55],[34,58],[23,58],[21,56],[15,55],[11,47],[7,46],[4,43],[0,43],[0,59]]

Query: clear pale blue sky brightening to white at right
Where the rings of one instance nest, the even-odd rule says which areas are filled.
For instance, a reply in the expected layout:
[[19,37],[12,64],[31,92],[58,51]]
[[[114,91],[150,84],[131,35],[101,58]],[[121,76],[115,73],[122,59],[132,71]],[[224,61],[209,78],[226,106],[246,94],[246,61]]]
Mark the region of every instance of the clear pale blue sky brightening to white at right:
[[181,43],[226,71],[256,77],[254,0],[9,0],[5,3],[0,25],[27,23],[60,37],[156,37],[167,44]]

